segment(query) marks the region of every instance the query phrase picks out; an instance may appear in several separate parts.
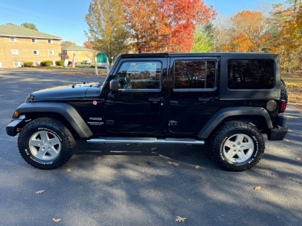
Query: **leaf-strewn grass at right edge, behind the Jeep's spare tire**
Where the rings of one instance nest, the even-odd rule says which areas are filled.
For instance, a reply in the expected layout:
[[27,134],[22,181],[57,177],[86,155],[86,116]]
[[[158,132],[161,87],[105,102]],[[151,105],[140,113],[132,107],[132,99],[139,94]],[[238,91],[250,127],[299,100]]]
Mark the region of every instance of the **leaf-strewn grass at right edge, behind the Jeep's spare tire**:
[[288,104],[302,110],[302,73],[281,74],[288,89]]

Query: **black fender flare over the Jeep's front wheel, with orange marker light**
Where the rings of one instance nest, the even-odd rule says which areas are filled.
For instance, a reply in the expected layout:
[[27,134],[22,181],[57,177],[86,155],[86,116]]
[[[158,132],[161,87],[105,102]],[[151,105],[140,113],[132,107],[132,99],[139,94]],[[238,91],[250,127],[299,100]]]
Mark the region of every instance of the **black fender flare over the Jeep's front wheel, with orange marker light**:
[[91,137],[93,133],[85,123],[83,118],[79,115],[74,107],[66,103],[59,102],[27,102],[21,104],[15,111],[18,116],[13,115],[12,118],[18,118],[20,115],[31,112],[54,112],[62,115],[73,129],[82,138]]

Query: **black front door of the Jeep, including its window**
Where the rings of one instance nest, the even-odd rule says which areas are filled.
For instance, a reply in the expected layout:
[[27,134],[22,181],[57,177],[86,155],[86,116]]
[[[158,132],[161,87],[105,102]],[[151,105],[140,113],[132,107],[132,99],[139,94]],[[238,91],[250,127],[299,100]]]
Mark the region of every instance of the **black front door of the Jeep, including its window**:
[[[106,128],[118,133],[153,133],[166,117],[167,58],[121,59],[114,79],[119,90],[110,99],[105,95]],[[107,93],[110,90],[107,90]]]

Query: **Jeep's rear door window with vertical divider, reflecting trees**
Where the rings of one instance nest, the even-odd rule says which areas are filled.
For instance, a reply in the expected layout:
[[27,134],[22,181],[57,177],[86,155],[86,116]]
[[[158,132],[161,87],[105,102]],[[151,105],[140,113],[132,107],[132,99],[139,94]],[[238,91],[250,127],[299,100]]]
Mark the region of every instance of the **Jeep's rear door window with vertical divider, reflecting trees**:
[[216,61],[175,61],[174,89],[211,89]]

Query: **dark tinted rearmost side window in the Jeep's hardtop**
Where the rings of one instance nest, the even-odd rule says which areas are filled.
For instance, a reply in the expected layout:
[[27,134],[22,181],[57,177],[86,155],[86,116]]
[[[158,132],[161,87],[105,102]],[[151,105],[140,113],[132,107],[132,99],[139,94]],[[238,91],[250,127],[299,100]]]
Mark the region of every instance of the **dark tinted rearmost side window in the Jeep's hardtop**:
[[274,61],[229,60],[229,89],[272,89],[274,88]]

